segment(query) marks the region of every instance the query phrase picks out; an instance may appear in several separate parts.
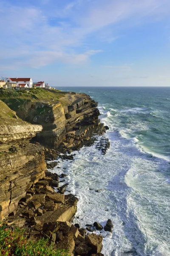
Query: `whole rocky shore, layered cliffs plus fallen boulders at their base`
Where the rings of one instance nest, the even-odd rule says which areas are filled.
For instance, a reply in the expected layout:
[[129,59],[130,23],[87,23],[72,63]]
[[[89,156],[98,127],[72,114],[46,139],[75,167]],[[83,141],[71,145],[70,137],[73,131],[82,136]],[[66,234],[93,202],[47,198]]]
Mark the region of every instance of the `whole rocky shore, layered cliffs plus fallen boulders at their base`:
[[64,195],[68,184],[59,187],[59,176],[45,163],[45,153],[56,159],[105,131],[97,103],[86,94],[40,88],[0,90],[0,99],[0,219],[8,216],[7,224],[24,225],[29,236],[48,237],[70,253],[100,253],[102,236],[68,222],[78,199]]

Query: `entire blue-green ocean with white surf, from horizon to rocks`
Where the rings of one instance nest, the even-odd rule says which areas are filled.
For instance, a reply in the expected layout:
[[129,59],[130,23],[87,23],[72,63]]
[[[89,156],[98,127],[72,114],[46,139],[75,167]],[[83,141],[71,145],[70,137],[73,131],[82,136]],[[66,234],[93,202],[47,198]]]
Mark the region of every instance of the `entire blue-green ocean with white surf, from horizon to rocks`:
[[96,141],[59,163],[79,198],[74,223],[113,221],[113,233],[102,231],[105,256],[169,256],[170,87],[57,89],[90,95],[110,128],[105,155]]

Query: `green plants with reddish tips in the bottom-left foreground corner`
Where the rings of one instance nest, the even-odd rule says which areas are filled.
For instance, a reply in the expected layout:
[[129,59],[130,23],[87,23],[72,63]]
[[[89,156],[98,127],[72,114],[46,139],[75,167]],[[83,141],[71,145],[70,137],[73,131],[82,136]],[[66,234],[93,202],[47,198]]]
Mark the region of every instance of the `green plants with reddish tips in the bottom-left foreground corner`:
[[29,240],[24,230],[0,226],[0,256],[68,256],[47,239]]

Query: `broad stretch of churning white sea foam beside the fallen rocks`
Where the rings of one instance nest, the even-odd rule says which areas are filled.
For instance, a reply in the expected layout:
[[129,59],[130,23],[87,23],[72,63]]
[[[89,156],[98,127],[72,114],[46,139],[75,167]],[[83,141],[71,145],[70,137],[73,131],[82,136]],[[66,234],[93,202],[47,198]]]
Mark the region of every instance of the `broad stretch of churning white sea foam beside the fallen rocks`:
[[[156,187],[159,184],[160,189],[163,188],[164,181],[161,172],[155,171],[159,171],[161,166],[166,167],[167,162],[141,154],[132,146],[137,143],[135,139],[120,138],[116,132],[109,132],[108,137],[111,150],[105,156],[93,145],[77,151],[73,162],[59,163],[61,168],[67,167],[64,172],[68,174],[68,190],[79,198],[74,223],[85,227],[85,224],[93,224],[94,221],[104,224],[111,218],[113,234],[102,232],[102,252],[105,256],[123,256],[134,249],[141,256],[167,256],[170,253],[167,233],[165,236],[161,233],[159,239],[159,230],[164,230],[164,216],[161,217],[161,209],[157,212],[154,208],[155,204],[161,205]],[[61,169],[55,170],[61,172]],[[154,198],[151,197],[152,184]],[[95,192],[98,189],[102,192]],[[167,193],[170,190],[168,187],[165,189]],[[148,209],[145,200],[147,207],[150,207]],[[147,215],[149,209],[155,217]]]

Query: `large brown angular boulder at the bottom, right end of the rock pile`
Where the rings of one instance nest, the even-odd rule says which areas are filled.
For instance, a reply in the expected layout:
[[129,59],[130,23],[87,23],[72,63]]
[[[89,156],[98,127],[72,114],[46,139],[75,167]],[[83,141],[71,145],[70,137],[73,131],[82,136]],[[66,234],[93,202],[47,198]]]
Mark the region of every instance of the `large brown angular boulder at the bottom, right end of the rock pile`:
[[100,253],[102,250],[102,241],[103,238],[101,235],[96,235],[96,234],[90,234],[87,236],[86,241],[88,245],[92,248],[93,253]]

